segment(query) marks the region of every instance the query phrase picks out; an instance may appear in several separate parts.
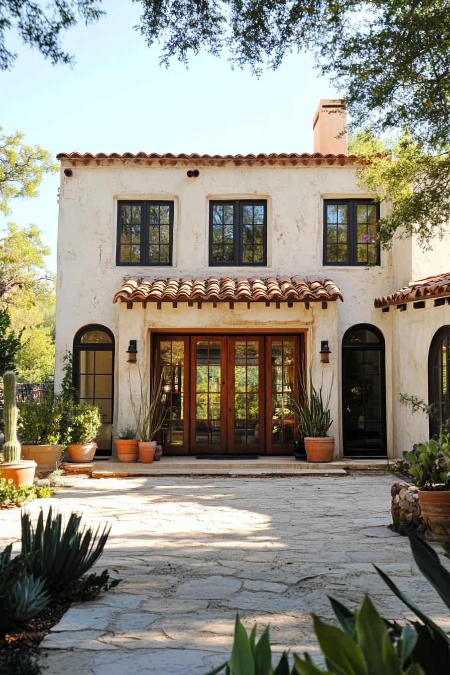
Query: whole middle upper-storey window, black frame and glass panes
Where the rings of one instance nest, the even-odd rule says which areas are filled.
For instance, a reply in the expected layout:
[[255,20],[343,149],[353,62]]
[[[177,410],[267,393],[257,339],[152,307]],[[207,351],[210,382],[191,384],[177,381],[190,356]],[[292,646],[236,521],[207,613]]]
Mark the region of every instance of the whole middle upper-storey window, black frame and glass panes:
[[209,264],[267,265],[267,202],[209,202]]

